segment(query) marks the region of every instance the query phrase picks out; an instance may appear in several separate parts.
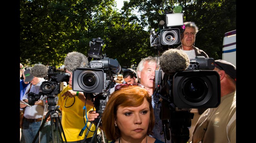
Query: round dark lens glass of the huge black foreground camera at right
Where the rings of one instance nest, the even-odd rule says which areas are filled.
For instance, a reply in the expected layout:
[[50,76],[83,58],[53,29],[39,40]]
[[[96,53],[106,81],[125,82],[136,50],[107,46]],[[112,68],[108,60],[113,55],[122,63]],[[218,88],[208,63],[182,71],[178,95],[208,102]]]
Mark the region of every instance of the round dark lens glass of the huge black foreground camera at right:
[[207,84],[202,78],[190,77],[182,84],[182,92],[190,102],[200,102],[208,91]]

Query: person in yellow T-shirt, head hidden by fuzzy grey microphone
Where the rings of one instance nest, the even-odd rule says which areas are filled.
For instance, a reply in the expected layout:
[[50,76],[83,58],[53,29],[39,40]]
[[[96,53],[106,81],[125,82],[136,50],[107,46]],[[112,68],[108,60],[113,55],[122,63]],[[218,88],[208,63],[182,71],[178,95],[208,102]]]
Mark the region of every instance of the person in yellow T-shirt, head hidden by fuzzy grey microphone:
[[[85,103],[85,96],[83,92],[73,91],[72,90],[72,72],[76,68],[86,68],[88,65],[88,60],[85,55],[79,52],[70,52],[67,54],[64,60],[64,65],[66,72],[71,76],[69,78],[69,85],[65,86],[62,92],[58,95],[60,105],[60,110],[62,111],[62,126],[64,134],[66,136],[68,143],[84,143],[83,139],[85,138],[85,133],[89,128],[87,128],[82,136],[79,136],[81,129],[85,126],[83,119],[83,107]],[[88,100],[86,102],[86,109],[88,114],[89,111],[93,109],[93,102]],[[85,116],[84,116],[85,118]],[[85,120],[86,122],[86,120]],[[95,131],[95,126],[92,125],[90,128],[91,131]],[[94,132],[89,132],[86,143],[90,142]],[[63,135],[62,135],[63,138]],[[97,131],[97,142],[100,142],[101,134],[100,130]],[[64,138],[63,138],[64,140]]]

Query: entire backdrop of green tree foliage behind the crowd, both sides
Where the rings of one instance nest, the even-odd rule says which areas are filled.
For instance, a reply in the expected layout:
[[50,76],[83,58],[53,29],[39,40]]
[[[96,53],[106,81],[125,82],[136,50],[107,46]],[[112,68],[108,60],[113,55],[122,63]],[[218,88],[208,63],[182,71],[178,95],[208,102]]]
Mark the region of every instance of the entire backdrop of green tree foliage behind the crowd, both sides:
[[235,0],[130,0],[121,12],[114,0],[20,0],[21,63],[60,66],[68,52],[87,56],[89,41],[100,37],[107,57],[137,65],[154,56],[144,27],[156,29],[177,4],[199,27],[195,46],[221,59],[224,33],[236,29]]

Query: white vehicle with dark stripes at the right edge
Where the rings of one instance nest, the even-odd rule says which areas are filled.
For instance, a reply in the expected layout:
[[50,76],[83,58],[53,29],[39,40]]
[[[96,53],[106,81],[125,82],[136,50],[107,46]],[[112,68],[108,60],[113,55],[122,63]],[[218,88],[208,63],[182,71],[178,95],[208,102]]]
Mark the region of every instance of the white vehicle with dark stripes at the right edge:
[[236,66],[236,30],[225,33],[223,38],[222,60]]

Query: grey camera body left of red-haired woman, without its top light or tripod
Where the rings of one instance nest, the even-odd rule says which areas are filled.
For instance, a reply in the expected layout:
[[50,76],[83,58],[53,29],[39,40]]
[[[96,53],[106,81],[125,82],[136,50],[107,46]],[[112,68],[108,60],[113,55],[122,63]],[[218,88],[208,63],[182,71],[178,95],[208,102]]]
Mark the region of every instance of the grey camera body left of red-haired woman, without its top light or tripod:
[[109,58],[92,60],[89,65],[90,68],[77,68],[73,71],[73,91],[104,92],[109,89],[109,85],[113,84],[112,75],[118,73],[121,69],[117,60]]

